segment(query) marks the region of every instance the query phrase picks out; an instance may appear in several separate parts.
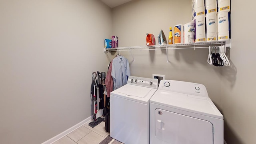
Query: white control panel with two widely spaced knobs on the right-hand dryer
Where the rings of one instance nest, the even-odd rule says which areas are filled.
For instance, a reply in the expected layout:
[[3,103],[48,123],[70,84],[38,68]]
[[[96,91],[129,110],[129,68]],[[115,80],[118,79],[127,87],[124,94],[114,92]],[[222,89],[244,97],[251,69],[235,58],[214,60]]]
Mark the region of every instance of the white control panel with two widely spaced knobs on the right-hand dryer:
[[161,80],[159,89],[179,92],[188,95],[209,97],[206,87],[202,84],[182,82],[177,80]]

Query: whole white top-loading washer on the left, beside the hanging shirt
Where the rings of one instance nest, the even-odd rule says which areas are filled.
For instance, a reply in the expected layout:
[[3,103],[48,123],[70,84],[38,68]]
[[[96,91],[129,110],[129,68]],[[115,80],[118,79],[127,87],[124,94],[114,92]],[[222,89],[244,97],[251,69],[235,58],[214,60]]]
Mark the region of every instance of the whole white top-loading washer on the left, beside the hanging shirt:
[[110,136],[125,144],[149,144],[149,100],[158,80],[129,76],[110,93]]

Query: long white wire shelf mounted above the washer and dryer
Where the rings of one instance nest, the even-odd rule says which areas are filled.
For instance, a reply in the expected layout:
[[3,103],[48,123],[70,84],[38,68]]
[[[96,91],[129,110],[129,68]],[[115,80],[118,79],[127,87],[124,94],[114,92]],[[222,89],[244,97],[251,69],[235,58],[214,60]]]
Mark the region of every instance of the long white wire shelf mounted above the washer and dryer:
[[209,46],[221,46],[226,45],[226,41],[219,42],[198,42],[188,44],[166,44],[166,45],[154,45],[154,46],[129,46],[119,48],[104,48],[104,52],[116,52],[116,51],[134,51],[134,50],[167,50],[167,49],[189,49],[189,48],[208,48]]

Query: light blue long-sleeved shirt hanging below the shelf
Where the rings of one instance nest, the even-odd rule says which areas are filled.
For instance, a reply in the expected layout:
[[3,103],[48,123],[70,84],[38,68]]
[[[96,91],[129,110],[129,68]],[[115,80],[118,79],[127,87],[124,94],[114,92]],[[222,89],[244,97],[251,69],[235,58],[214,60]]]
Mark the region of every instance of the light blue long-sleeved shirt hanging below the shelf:
[[124,56],[118,55],[112,60],[113,90],[120,88],[127,84],[128,76],[130,76],[130,65]]

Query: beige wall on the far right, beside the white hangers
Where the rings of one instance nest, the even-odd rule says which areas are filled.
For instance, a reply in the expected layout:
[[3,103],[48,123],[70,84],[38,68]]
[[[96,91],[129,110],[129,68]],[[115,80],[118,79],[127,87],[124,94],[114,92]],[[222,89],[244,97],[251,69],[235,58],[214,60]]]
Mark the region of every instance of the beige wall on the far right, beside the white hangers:
[[256,144],[255,5],[251,0],[231,3],[232,63],[222,70],[224,138],[228,144]]

